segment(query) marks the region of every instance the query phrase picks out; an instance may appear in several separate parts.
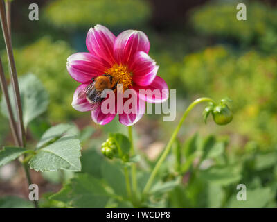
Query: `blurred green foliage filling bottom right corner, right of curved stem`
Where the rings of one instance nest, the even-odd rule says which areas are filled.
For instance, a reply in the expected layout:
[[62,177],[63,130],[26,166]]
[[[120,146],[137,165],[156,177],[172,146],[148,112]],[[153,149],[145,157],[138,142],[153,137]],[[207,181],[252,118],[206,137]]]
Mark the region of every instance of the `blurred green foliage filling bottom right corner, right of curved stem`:
[[[180,173],[183,178],[163,195],[168,198],[163,207],[276,207],[276,161],[276,151],[262,152],[247,144],[238,153],[226,139],[195,134],[184,144],[177,142],[163,165],[164,182]],[[247,201],[237,200],[239,184],[246,185]]]

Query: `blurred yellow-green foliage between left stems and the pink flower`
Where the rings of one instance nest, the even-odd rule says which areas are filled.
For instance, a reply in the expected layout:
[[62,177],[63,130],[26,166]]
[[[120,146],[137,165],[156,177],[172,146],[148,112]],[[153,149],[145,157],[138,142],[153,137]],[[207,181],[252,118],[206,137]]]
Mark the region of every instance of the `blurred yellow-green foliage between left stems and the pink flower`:
[[[46,87],[50,96],[48,117],[51,121],[60,122],[78,113],[70,105],[78,83],[71,79],[66,70],[66,58],[72,53],[68,44],[62,41],[53,42],[48,37],[23,49],[15,49],[19,76],[32,72]],[[3,64],[8,64],[6,55],[3,56]]]

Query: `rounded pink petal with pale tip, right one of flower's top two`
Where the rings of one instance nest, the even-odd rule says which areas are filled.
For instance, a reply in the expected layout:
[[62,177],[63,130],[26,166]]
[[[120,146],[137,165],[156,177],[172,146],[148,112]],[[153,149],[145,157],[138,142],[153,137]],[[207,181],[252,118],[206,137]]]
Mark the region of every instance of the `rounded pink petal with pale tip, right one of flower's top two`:
[[150,43],[142,31],[127,30],[116,37],[114,57],[118,64],[127,65],[137,51],[148,53]]

